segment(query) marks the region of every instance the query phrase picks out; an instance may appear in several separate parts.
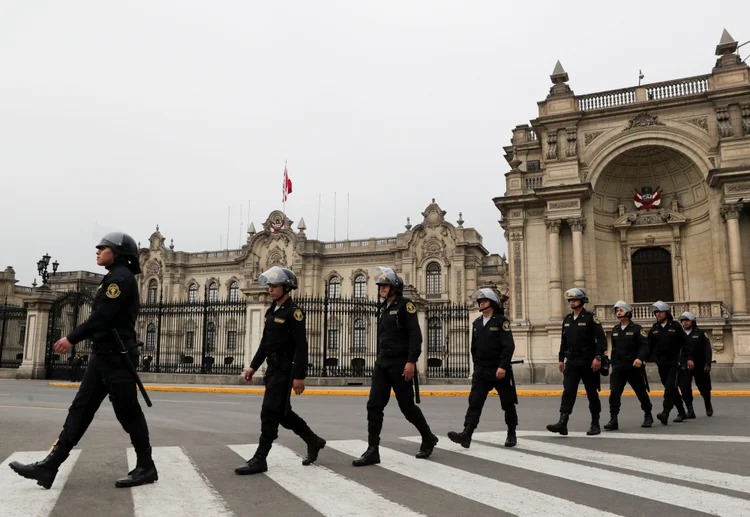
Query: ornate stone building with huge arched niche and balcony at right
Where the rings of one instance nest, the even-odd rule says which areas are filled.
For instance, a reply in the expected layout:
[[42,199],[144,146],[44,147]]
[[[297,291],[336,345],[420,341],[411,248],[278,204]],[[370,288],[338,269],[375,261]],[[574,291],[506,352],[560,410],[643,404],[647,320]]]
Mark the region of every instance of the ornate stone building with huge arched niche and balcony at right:
[[750,68],[726,32],[711,73],[576,95],[558,62],[538,117],[513,130],[495,204],[509,242],[519,358],[559,382],[563,295],[583,287],[609,332],[618,299],[690,310],[716,378],[750,379]]

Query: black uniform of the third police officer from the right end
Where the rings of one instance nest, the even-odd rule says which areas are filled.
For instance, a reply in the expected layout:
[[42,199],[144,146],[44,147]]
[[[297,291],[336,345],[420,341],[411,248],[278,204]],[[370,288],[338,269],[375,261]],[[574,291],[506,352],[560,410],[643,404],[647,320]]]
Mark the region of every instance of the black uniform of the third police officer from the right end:
[[[651,400],[644,379],[648,359],[648,331],[632,321],[624,329],[619,323],[612,329],[612,373],[609,375],[609,412],[620,413],[620,401],[625,384],[629,383],[641,403],[641,409],[650,413]],[[633,366],[636,359],[643,361],[640,368]]]

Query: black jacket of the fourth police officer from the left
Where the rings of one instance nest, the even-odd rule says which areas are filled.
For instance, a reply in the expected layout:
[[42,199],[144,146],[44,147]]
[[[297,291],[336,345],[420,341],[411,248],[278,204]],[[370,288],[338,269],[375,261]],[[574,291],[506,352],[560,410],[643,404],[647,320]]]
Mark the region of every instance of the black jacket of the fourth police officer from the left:
[[471,357],[475,368],[510,369],[516,345],[505,316],[493,314],[485,325],[482,317],[474,320],[471,333]]

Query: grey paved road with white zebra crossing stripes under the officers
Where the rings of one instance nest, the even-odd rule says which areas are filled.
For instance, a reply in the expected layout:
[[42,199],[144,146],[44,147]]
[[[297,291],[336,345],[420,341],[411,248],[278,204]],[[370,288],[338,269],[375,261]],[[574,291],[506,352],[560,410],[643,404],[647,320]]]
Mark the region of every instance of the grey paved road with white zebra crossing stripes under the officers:
[[0,381],[0,515],[750,516],[745,397],[717,397],[713,418],[698,398],[696,420],[652,429],[639,427],[637,400],[628,397],[622,430],[595,438],[583,436],[585,397],[565,438],[544,430],[556,420],[559,400],[524,397],[519,446],[510,450],[500,445],[505,432],[496,397],[468,450],[445,438],[461,427],[466,400],[426,397],[422,409],[441,437],[427,461],[414,458],[418,438],[392,399],[383,461],[359,469],[351,460],[366,448],[365,399],[295,397],[295,410],[328,440],[319,464],[302,467],[304,444],[282,429],[268,473],[240,477],[232,470],[254,451],[261,396],[154,393],[146,414],[159,482],[113,487],[133,455],[107,401],[52,490],[43,490],[7,463],[44,457],[73,395],[45,383]]

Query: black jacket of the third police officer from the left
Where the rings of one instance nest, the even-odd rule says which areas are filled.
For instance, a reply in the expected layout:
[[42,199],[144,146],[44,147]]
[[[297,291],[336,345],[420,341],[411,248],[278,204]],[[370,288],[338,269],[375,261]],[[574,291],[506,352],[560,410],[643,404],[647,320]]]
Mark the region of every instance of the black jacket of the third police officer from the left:
[[416,363],[422,354],[422,331],[417,308],[408,298],[397,296],[393,303],[381,308],[378,321],[378,350],[384,357],[406,357]]

